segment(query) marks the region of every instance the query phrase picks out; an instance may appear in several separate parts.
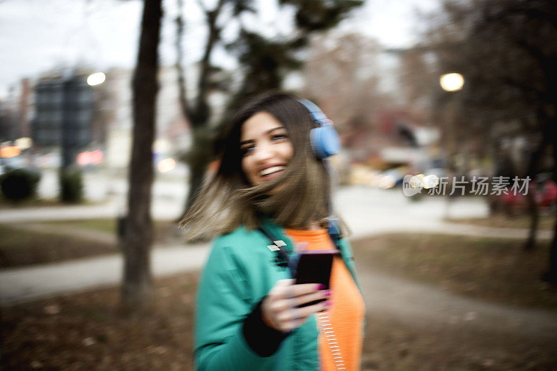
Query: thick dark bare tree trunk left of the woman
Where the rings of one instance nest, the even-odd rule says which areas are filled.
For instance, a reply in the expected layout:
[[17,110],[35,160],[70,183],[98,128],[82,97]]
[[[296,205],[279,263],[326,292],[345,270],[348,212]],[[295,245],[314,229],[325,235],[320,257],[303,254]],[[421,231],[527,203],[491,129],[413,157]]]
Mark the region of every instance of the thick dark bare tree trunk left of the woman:
[[124,281],[122,299],[127,310],[150,306],[152,276],[150,216],[153,180],[152,142],[155,137],[158,45],[162,17],[161,0],[145,0],[141,21],[139,55],[134,72],[132,157],[130,159],[127,217],[123,237]]

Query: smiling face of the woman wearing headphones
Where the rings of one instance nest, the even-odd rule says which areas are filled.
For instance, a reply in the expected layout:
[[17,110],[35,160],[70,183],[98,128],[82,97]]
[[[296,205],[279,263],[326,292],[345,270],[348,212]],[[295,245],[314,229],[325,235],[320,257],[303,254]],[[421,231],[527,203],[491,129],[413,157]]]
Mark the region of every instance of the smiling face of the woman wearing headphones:
[[250,184],[256,185],[283,173],[294,148],[284,125],[272,114],[261,111],[242,125],[240,152],[242,171]]

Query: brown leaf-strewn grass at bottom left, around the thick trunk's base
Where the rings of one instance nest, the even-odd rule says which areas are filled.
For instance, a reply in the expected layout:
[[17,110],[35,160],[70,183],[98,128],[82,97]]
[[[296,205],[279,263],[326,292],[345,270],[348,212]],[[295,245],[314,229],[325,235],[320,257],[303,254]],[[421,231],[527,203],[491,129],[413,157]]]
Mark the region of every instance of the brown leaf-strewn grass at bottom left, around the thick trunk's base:
[[2,309],[6,369],[189,370],[197,274],[157,281],[150,313],[127,316],[117,288]]

